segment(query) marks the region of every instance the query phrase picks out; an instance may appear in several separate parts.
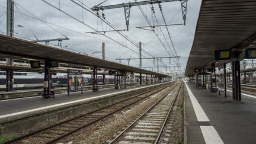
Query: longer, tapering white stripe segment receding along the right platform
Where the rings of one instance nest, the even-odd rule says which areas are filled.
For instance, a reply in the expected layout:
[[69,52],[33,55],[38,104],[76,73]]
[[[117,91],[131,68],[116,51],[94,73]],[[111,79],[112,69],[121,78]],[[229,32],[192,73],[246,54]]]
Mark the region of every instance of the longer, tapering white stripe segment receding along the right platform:
[[187,82],[184,82],[184,83],[187,87],[188,95],[193,105],[194,112],[196,113],[197,121],[210,121],[206,116],[206,114],[204,113],[203,108],[201,108],[201,105],[196,100],[196,97],[194,97],[194,94],[191,92],[190,88],[188,87]]

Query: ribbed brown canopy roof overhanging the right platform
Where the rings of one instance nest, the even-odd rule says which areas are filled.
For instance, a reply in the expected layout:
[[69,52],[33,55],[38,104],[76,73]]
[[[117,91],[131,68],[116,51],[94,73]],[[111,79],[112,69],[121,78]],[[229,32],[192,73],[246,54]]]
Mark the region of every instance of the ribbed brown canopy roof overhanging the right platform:
[[[213,62],[215,50],[241,50],[255,40],[255,0],[202,0],[185,75]],[[218,65],[224,62],[230,60]]]

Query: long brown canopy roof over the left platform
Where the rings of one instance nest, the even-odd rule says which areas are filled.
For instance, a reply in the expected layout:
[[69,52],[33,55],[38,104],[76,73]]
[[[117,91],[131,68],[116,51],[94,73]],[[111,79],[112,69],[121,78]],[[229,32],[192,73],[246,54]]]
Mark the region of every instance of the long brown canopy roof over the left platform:
[[59,62],[72,63],[83,66],[96,66],[98,68],[115,69],[119,71],[144,73],[149,75],[167,76],[161,73],[146,71],[145,69],[123,65],[121,63],[110,62],[88,55],[82,55],[56,47],[45,46],[30,41],[17,39],[0,34],[0,53],[4,55],[18,56],[30,59],[57,59]]

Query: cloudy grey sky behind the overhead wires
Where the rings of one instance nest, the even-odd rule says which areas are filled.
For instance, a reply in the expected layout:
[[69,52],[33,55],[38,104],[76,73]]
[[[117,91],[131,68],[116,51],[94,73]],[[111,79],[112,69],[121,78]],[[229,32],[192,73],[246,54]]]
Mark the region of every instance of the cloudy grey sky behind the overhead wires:
[[[82,11],[81,7],[78,7],[78,5],[74,4],[73,2],[69,0],[52,0],[50,4],[55,5],[57,8],[60,8],[61,10],[67,12],[68,14],[72,15],[73,17],[77,18],[79,21],[82,21],[84,19],[84,24],[74,20],[73,18],[69,17],[68,15],[63,14],[59,10],[50,7],[50,5],[47,5],[41,0],[14,0],[16,3],[15,7],[15,15],[14,15],[14,32],[15,36],[23,36],[23,37],[30,37],[31,39],[37,39],[44,40],[44,39],[57,39],[57,38],[64,38],[64,36],[68,37],[70,40],[65,40],[62,42],[62,46],[68,46],[68,49],[76,50],[76,52],[85,52],[89,55],[96,56],[96,57],[102,57],[101,53],[94,53],[94,52],[100,52],[101,51],[101,44],[102,42],[105,42],[105,56],[108,60],[115,60],[116,58],[129,58],[129,57],[139,57],[135,52],[132,52],[132,50],[127,49],[126,47],[120,46],[120,44],[108,39],[107,37],[111,37],[111,39],[114,39],[116,41],[119,41],[119,43],[122,43],[124,46],[129,47],[130,49],[135,50],[136,52],[139,52],[139,49],[124,39],[124,37],[120,36],[120,34],[117,34],[116,32],[106,33],[106,36],[101,36],[99,34],[86,34],[86,32],[94,31],[91,28],[87,27],[86,25],[89,25],[90,27],[102,31],[104,30],[111,30],[110,27],[107,27],[105,23],[101,24],[101,20],[96,17],[95,15],[92,15],[88,11]],[[84,2],[84,4],[88,7],[93,7],[94,5],[100,4],[101,1],[95,1],[95,0],[80,0]],[[125,2],[134,2],[132,0],[108,0],[107,2],[104,2],[103,5],[111,5],[111,4],[121,4]],[[180,63],[181,63],[181,69],[184,71],[185,65],[187,63],[187,59],[190,53],[190,49],[193,43],[194,39],[194,31],[196,28],[196,22],[199,15],[199,9],[200,9],[201,0],[193,0],[188,1],[188,11],[187,11],[187,21],[186,25],[176,25],[176,26],[169,26],[169,32],[171,34],[172,41],[174,43],[175,49],[177,51],[178,56],[181,56]],[[6,11],[5,8],[7,5],[6,0],[0,1],[0,16],[4,14]],[[180,24],[183,23],[183,18],[181,14],[181,4],[180,2],[167,2],[162,3],[162,11],[164,12],[165,19],[167,23],[174,17],[175,14],[178,14],[173,18],[171,23],[169,24]],[[153,5],[155,8],[155,14],[156,18],[159,21],[159,24],[164,24],[161,12],[159,11],[158,5]],[[149,5],[143,5],[142,6],[143,11],[147,15],[149,21],[152,24],[157,25],[154,18],[152,18],[152,11],[151,7]],[[179,12],[180,11],[180,12]],[[21,12],[25,15],[21,15],[18,12]],[[102,14],[101,11],[99,11],[100,14]],[[126,23],[124,19],[124,9],[107,9],[104,11],[106,20],[110,21],[111,24],[113,24],[115,27],[121,29],[126,28]],[[48,23],[51,23],[49,25],[43,23],[40,20],[37,20],[35,18],[28,17],[27,15],[30,15],[31,17],[37,17],[40,20],[47,21]],[[0,17],[0,31],[6,33],[6,18],[5,14]],[[24,17],[24,18],[23,18]],[[83,18],[84,17],[84,18]],[[25,20],[24,20],[25,19]],[[55,24],[55,25],[52,25]],[[86,25],[85,25],[86,24]],[[23,25],[24,27],[20,28],[17,27],[17,25]],[[29,26],[28,26],[29,25]],[[60,27],[58,27],[58,26]],[[164,49],[164,46],[160,43],[160,41],[155,38],[155,34],[153,31],[149,30],[140,30],[136,27],[139,26],[145,26],[148,25],[146,23],[145,18],[142,15],[142,12],[140,12],[138,7],[132,7],[131,8],[131,14],[130,14],[130,25],[129,25],[129,31],[123,31],[123,33],[135,41],[135,43],[139,43],[140,41],[142,43],[145,43],[146,47],[143,46],[143,50],[152,53],[154,56],[162,57],[162,56],[168,56],[167,51]],[[52,27],[52,28],[51,28]],[[33,33],[31,32],[31,30]],[[54,30],[55,29],[55,30]],[[167,39],[167,42],[169,43],[169,46],[171,46],[171,42],[168,37],[167,30],[165,27],[162,27],[165,37]],[[156,28],[156,33],[159,33],[159,28]],[[64,36],[62,36],[62,34]],[[34,36],[35,35],[35,36]],[[162,35],[159,36],[162,41],[165,43],[165,39]],[[57,42],[51,42],[53,44],[57,44]],[[165,46],[169,50],[169,47],[165,43]],[[172,48],[172,47],[171,47]],[[94,54],[92,54],[94,53]],[[145,57],[151,57],[149,55],[146,55],[145,52],[142,53]],[[119,62],[119,61],[118,61]],[[127,60],[121,60],[122,63],[127,64]],[[169,59],[163,60],[163,62],[167,65],[169,65]],[[130,65],[132,66],[138,66],[139,60],[130,60]],[[153,66],[153,62],[151,60],[142,60],[142,67],[145,66]],[[156,63],[155,63],[156,66]],[[171,61],[171,66],[175,66],[174,62]],[[174,70],[174,68],[172,68]],[[154,71],[157,71],[155,68]],[[165,71],[165,68],[161,68],[160,71]]]

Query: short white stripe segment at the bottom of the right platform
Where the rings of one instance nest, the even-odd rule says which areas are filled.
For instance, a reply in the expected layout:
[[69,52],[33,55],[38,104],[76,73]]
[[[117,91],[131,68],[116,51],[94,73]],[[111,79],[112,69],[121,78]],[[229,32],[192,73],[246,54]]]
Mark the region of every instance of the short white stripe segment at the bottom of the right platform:
[[224,144],[213,126],[200,126],[206,144]]

